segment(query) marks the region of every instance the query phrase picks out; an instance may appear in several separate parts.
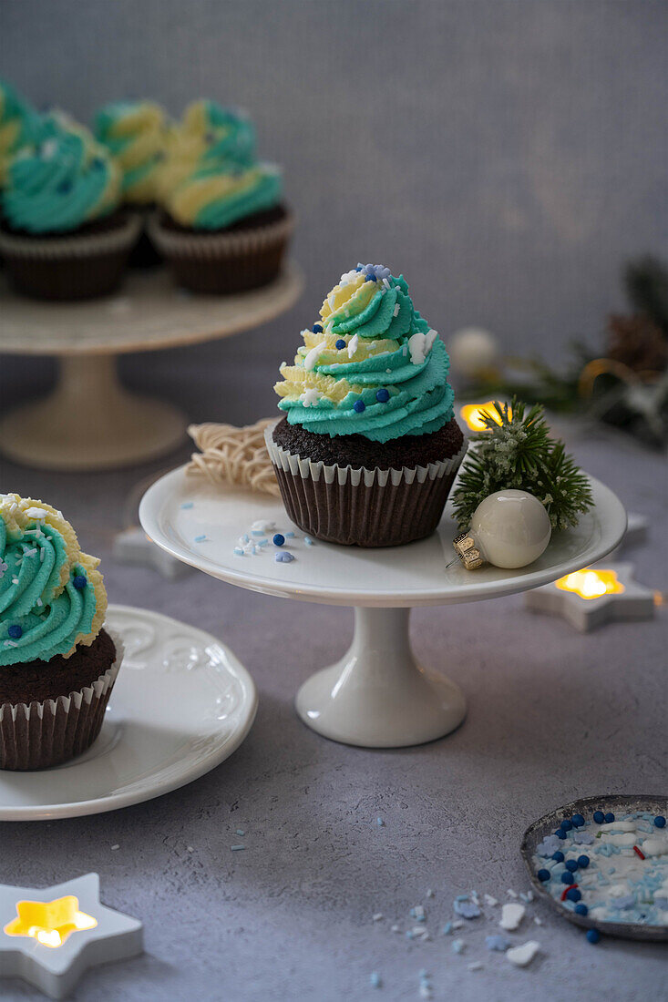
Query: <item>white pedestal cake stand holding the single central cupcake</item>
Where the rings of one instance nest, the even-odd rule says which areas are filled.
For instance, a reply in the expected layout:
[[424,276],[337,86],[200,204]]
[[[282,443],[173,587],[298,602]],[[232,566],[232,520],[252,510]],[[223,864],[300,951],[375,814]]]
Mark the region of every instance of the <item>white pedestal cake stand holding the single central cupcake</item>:
[[[622,539],[626,512],[611,490],[590,480],[592,511],[576,529],[558,533],[540,560],[516,571],[447,567],[456,534],[449,508],[437,532],[407,546],[307,546],[280,500],[213,487],[187,477],[185,467],[149,488],[139,518],[158,546],[213,577],[270,595],[352,605],[350,650],[302,685],[297,712],[326,737],[399,747],[442,737],[458,726],[466,710],[458,686],[418,664],[408,635],[410,608],[526,591],[600,560]],[[235,554],[239,537],[260,519],[274,522],[279,531],[295,531],[295,538],[287,540],[294,562],[277,563],[271,542],[259,555]]]

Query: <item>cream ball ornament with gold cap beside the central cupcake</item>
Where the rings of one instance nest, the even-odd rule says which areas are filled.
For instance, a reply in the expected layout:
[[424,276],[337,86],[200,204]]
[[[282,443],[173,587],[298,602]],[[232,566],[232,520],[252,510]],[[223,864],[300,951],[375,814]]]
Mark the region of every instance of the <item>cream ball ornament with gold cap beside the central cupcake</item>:
[[538,560],[551,535],[550,518],[539,499],[509,488],[480,502],[470,528],[456,536],[452,545],[468,570],[483,563],[511,570]]

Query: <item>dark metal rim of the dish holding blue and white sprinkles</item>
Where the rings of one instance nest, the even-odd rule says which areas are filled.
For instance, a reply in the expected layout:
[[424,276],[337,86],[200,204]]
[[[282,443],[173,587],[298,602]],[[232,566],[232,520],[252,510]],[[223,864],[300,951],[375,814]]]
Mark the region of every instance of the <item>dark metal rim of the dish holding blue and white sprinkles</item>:
[[546,835],[550,835],[559,827],[562,818],[570,818],[574,814],[582,814],[586,818],[591,817],[593,811],[612,811],[613,813],[631,814],[634,811],[647,811],[651,814],[666,815],[668,813],[668,798],[641,795],[631,797],[626,795],[609,794],[605,797],[584,797],[582,800],[573,801],[572,804],[565,804],[564,807],[557,808],[545,815],[539,821],[535,821],[527,831],[522,842],[522,857],[529,871],[529,878],[538,893],[545,898],[555,908],[559,914],[583,929],[597,929],[606,936],[621,936],[624,939],[649,940],[651,942],[668,941],[668,926],[644,926],[638,922],[601,922],[593,919],[589,915],[576,915],[566,908],[562,908],[559,901],[555,901],[552,895],[545,889],[541,881],[536,876],[532,862],[536,847]]

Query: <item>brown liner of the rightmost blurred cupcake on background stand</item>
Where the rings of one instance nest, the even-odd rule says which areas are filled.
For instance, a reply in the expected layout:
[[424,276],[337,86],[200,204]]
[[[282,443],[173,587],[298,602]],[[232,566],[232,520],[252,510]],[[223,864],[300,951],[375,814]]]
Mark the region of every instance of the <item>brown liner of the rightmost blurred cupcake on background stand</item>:
[[265,225],[231,232],[180,232],[155,214],[148,235],[179,285],[197,293],[234,294],[272,282],[295,226],[292,212]]

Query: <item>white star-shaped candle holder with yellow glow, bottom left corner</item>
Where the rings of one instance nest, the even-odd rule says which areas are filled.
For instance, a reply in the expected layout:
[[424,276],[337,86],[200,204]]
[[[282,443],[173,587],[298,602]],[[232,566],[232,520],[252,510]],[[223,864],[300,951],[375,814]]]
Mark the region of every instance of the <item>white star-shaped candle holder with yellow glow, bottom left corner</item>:
[[0,977],[62,999],[89,967],[142,949],[141,923],[100,903],[97,874],[39,890],[0,885]]

